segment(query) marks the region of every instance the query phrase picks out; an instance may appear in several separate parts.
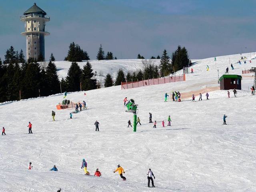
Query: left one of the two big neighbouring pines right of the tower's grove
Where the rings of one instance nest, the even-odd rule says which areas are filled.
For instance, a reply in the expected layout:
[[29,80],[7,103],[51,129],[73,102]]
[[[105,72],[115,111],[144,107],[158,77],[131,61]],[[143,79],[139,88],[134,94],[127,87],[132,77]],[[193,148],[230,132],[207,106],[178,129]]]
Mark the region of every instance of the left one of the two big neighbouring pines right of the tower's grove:
[[68,69],[68,75],[66,77],[67,91],[79,91],[81,82],[82,70],[76,62],[72,62]]

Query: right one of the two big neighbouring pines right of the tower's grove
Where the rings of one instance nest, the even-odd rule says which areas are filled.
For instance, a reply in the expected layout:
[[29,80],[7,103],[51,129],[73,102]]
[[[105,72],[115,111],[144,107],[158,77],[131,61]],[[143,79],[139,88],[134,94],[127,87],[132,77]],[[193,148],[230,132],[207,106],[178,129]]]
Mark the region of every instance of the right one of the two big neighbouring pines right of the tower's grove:
[[82,70],[82,90],[92,90],[97,88],[96,79],[92,79],[94,73],[92,72],[92,65],[87,62]]

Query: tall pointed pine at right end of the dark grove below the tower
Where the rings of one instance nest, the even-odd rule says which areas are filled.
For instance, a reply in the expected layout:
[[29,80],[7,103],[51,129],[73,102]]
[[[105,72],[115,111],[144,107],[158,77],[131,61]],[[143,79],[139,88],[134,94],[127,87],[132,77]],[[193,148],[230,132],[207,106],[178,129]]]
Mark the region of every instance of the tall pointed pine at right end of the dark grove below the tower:
[[57,74],[57,68],[51,60],[46,68],[46,79],[48,84],[48,95],[59,93],[60,81]]

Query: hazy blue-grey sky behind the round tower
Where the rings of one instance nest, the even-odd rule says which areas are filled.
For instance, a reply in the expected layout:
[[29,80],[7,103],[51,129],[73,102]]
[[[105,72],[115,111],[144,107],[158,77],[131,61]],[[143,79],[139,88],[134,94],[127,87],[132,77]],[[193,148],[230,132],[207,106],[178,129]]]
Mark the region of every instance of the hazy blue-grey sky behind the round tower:
[[[36,1],[0,2],[0,57],[10,46],[26,52],[20,16]],[[96,59],[169,56],[185,46],[191,59],[256,51],[255,0],[44,0],[36,2],[48,16],[45,57],[63,60],[71,42]]]

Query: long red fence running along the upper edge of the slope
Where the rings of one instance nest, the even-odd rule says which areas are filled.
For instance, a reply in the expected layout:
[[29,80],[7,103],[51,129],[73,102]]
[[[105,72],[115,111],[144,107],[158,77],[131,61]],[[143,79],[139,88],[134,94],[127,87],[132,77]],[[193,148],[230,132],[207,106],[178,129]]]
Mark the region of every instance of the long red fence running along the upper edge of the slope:
[[121,82],[121,89],[131,89],[149,85],[158,85],[164,83],[171,83],[171,82],[178,82],[178,81],[185,81],[185,74],[180,76],[173,76],[173,77],[163,77],[163,78],[155,78],[155,79],[148,79],[142,81],[132,81],[132,82]]

